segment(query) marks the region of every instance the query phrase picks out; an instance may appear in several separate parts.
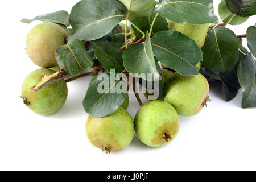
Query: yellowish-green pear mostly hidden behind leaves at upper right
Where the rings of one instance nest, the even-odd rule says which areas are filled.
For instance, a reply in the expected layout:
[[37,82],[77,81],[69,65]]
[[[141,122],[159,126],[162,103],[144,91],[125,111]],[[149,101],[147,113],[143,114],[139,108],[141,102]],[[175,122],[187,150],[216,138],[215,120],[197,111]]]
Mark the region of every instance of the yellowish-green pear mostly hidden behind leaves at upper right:
[[168,20],[169,30],[176,30],[189,38],[195,40],[198,46],[201,48],[204,46],[205,38],[209,30],[209,23],[201,25],[193,25],[188,23],[174,23]]

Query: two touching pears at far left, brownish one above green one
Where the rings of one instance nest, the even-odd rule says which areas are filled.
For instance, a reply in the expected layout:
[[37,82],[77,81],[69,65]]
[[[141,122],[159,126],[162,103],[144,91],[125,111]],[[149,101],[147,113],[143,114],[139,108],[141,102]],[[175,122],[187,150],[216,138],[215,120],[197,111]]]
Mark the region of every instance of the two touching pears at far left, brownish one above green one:
[[64,79],[53,82],[38,92],[31,89],[42,80],[43,76],[56,72],[55,51],[65,44],[67,38],[68,34],[64,28],[55,23],[38,24],[27,36],[27,54],[36,65],[42,68],[26,77],[22,84],[21,97],[24,104],[37,114],[56,113],[67,99],[68,88]]

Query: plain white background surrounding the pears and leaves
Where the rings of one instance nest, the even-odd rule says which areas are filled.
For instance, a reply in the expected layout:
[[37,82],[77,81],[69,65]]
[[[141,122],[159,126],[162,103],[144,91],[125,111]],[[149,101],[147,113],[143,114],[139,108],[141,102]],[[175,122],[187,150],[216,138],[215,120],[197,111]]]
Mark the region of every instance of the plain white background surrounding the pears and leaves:
[[[40,22],[23,24],[20,19],[58,10],[70,12],[76,2],[1,2],[0,169],[256,169],[256,110],[241,109],[241,90],[234,100],[225,102],[220,88],[211,84],[213,101],[195,117],[180,117],[180,133],[173,142],[150,148],[135,137],[125,150],[110,155],[93,147],[85,135],[88,114],[82,100],[90,77],[68,83],[67,102],[54,115],[42,117],[24,106],[20,87],[38,69],[26,55],[26,36]],[[215,7],[218,2],[214,0]],[[255,16],[229,28],[240,35],[253,24]],[[134,117],[139,105],[133,94],[130,98],[128,111]]]

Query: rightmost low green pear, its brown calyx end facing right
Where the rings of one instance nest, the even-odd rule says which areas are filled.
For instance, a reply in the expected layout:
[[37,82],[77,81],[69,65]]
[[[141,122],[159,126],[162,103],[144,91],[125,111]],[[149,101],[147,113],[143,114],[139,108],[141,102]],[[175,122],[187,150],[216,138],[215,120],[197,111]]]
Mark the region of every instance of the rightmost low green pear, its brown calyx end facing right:
[[164,101],[174,106],[179,115],[192,116],[203,109],[208,94],[209,84],[203,75],[186,77],[174,73],[166,85]]

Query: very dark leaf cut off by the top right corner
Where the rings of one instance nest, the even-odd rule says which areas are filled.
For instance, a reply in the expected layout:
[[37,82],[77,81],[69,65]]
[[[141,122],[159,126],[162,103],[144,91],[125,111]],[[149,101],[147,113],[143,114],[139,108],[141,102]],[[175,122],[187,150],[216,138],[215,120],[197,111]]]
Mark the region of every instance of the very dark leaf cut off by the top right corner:
[[256,14],[255,0],[225,0],[226,6],[233,14],[249,17]]

